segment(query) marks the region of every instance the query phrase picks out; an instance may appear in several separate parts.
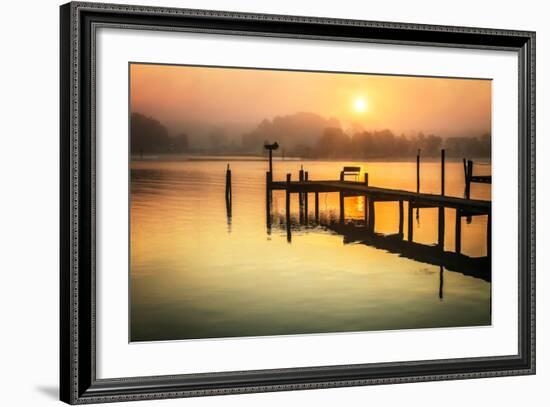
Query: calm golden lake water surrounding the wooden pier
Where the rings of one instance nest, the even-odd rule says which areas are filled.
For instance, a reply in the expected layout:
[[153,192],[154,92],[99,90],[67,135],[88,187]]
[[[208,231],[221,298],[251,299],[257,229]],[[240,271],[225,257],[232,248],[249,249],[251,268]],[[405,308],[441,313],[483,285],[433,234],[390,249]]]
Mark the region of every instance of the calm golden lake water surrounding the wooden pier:
[[[224,199],[227,163],[231,216]],[[413,162],[277,161],[274,178],[290,172],[297,179],[300,164],[312,180],[337,179],[343,165],[361,165],[370,185],[416,190]],[[268,229],[266,169],[262,161],[230,159],[132,163],[132,341],[491,323],[491,285],[483,279],[346,243],[323,226],[293,222],[288,242],[282,192],[273,194]],[[439,193],[439,171],[437,162],[422,164],[422,192]],[[447,163],[447,195],[462,197],[463,190],[462,163]],[[473,184],[472,198],[490,199],[490,186]],[[320,194],[319,202],[324,222],[337,219],[338,194]],[[293,219],[298,207],[293,196]],[[310,218],[313,210],[310,195]],[[345,211],[348,222],[360,225],[363,198],[346,198]],[[397,213],[396,203],[376,203],[375,231],[396,233]],[[405,204],[405,225],[406,216]],[[452,251],[454,210],[445,216],[445,250]],[[462,252],[485,256],[487,217],[462,222]],[[420,209],[413,236],[436,243],[437,209]]]

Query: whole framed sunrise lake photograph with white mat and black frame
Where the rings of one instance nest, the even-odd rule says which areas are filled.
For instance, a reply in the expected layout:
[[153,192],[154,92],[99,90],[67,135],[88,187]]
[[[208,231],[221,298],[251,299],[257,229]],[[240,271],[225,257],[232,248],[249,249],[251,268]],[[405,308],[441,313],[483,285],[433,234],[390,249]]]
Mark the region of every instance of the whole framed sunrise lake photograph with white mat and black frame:
[[535,33],[61,6],[61,399],[535,373]]

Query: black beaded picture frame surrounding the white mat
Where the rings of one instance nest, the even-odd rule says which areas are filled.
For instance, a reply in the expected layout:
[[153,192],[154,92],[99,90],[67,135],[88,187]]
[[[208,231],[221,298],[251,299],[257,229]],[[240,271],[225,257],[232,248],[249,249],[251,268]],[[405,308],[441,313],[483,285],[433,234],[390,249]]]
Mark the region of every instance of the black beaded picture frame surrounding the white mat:
[[[83,404],[535,373],[534,32],[82,2],[61,6],[60,21],[62,401]],[[100,26],[517,52],[518,353],[436,361],[97,379],[93,38]]]

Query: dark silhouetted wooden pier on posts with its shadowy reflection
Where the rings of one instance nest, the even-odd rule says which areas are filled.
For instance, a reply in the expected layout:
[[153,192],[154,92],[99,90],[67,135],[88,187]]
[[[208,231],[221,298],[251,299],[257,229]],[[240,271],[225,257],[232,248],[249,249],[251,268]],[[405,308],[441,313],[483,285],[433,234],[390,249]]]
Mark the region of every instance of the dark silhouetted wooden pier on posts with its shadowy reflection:
[[[464,161],[466,162],[466,160]],[[298,180],[292,181],[291,174],[286,175],[285,181],[274,181],[273,172],[266,173],[266,219],[268,231],[271,230],[272,191],[285,192],[285,224],[287,240],[292,240],[291,194],[298,194],[299,216],[298,224],[310,225],[309,196],[313,194],[314,220],[313,224],[321,225],[344,237],[344,243],[357,242],[380,248],[416,261],[437,265],[448,270],[457,271],[466,275],[491,280],[491,201],[471,199],[470,184],[472,182],[490,183],[490,176],[472,175],[473,163],[465,164],[465,197],[459,198],[445,195],[445,150],[441,151],[441,193],[427,194],[420,192],[420,151],[417,156],[417,188],[416,192],[398,189],[380,188],[369,185],[368,173],[364,179],[346,180],[345,176],[355,168],[345,167],[338,180],[310,180],[307,171],[300,169]],[[270,164],[270,170],[272,165]],[[339,194],[339,219],[335,222],[322,224],[319,216],[319,194]],[[360,225],[346,223],[345,198],[362,196],[365,200],[364,222]],[[375,233],[376,206],[375,202],[397,202],[399,204],[399,228],[397,233],[382,235]],[[405,234],[404,208],[407,207],[407,233]],[[438,210],[438,233],[435,245],[426,245],[414,241],[413,236],[413,209],[435,208]],[[453,251],[446,251],[445,240],[445,209],[455,211],[455,246]],[[487,216],[486,247],[487,256],[469,257],[462,254],[462,218],[471,219],[472,216]],[[406,237],[406,238],[405,238]]]

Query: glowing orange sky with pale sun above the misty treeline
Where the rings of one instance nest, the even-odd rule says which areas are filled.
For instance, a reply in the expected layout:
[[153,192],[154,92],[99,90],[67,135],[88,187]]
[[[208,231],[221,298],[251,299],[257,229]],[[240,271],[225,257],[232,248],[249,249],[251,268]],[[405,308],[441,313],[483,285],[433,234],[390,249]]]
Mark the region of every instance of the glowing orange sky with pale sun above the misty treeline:
[[344,127],[441,136],[491,129],[491,81],[132,64],[131,111],[160,121],[255,125],[313,112]]

